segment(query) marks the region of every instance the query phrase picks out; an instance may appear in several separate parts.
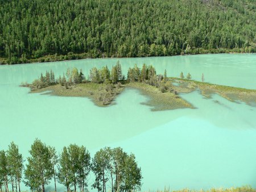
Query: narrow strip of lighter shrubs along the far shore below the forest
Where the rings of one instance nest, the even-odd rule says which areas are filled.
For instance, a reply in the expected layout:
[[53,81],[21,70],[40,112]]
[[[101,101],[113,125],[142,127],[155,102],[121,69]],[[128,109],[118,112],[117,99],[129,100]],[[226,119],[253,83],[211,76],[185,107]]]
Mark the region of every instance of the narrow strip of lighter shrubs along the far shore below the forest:
[[[189,52],[180,52],[176,55],[138,55],[137,57],[156,57],[156,56],[178,56],[178,55],[201,55],[201,54],[214,54],[214,53],[255,53],[248,51],[247,48],[234,48],[234,49],[203,49],[203,48],[194,48]],[[253,49],[252,49],[253,50]],[[96,59],[96,58],[129,58],[129,57],[119,57],[113,55],[113,57],[106,57],[104,54],[95,55],[92,53],[73,53],[70,52],[67,55],[46,55],[39,58],[16,58],[11,61],[8,58],[0,57],[0,65],[8,64],[26,64],[26,63],[35,63],[35,62],[55,62],[55,61],[66,61],[66,60],[80,60],[80,59]]]

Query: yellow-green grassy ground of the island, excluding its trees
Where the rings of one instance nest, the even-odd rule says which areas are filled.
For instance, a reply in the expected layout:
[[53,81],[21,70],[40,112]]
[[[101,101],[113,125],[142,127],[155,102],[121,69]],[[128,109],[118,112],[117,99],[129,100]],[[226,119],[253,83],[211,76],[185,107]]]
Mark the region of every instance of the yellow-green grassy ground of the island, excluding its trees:
[[[178,83],[175,86],[172,83]],[[247,105],[256,105],[256,90],[243,89],[239,87],[230,87],[207,82],[199,82],[186,80],[181,78],[168,78],[162,81],[159,87],[151,86],[142,82],[123,82],[124,85],[118,84],[95,84],[88,82],[85,84],[76,84],[66,89],[65,86],[52,85],[43,89],[33,89],[31,85],[24,84],[22,86],[30,86],[31,93],[52,94],[64,97],[87,97],[92,99],[95,105],[104,107],[113,104],[118,94],[122,93],[125,87],[138,89],[143,95],[146,95],[148,101],[143,105],[151,106],[152,111],[174,110],[177,108],[194,108],[191,103],[179,97],[179,93],[190,93],[194,90],[200,90],[200,93],[206,98],[210,98],[212,94],[221,95],[232,102],[242,101]]]

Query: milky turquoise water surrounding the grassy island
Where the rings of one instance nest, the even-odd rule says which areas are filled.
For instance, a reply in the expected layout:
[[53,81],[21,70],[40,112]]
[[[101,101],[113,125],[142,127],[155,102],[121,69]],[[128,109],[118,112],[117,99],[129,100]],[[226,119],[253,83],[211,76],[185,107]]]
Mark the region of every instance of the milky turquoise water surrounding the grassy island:
[[[41,72],[56,75],[76,66],[88,71],[118,59],[88,59],[0,66],[0,149],[11,141],[24,156],[36,137],[61,151],[64,145],[85,145],[94,153],[105,146],[133,152],[142,168],[142,190],[256,187],[256,107],[229,102],[197,91],[181,94],[196,109],[152,112],[140,103],[147,98],[127,89],[110,107],[87,98],[28,94],[20,82],[32,82]],[[192,74],[192,79],[256,89],[256,55],[218,54],[119,59],[123,73],[135,63],[155,66],[168,76]],[[86,74],[88,75],[88,74]],[[89,186],[92,178],[89,180]],[[59,185],[59,189],[63,189]],[[53,183],[48,190],[53,189]]]

